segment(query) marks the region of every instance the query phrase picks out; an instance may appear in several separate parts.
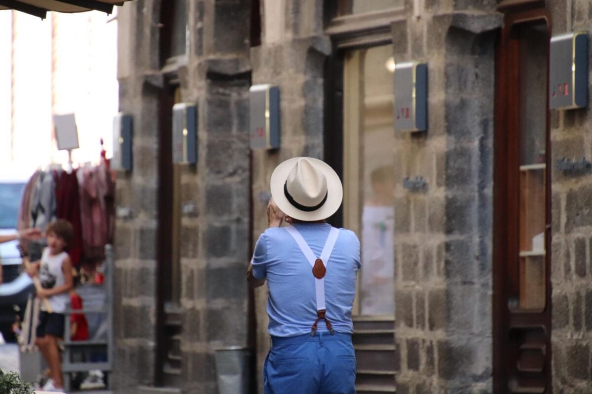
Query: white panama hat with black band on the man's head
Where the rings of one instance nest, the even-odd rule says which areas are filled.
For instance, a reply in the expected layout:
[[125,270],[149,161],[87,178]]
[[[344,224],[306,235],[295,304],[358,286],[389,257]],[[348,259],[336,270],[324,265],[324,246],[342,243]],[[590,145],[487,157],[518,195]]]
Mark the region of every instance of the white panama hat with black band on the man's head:
[[271,175],[271,195],[289,217],[314,222],[339,209],[343,187],[337,173],[324,161],[311,157],[288,159]]

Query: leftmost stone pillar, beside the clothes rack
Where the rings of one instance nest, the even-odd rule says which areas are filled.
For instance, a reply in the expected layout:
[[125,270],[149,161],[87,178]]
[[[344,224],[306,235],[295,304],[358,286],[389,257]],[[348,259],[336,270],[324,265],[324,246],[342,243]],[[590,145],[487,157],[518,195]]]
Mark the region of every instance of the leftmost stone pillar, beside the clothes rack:
[[[115,365],[116,392],[130,392],[154,381],[156,348],[156,214],[158,169],[157,100],[144,84],[143,70],[157,64],[150,51],[157,30],[150,21],[152,1],[126,4],[121,12],[120,110],[134,116],[134,171],[117,177],[117,206],[130,216],[115,223]],[[124,38],[126,40],[124,40]],[[157,53],[157,52],[156,52]]]

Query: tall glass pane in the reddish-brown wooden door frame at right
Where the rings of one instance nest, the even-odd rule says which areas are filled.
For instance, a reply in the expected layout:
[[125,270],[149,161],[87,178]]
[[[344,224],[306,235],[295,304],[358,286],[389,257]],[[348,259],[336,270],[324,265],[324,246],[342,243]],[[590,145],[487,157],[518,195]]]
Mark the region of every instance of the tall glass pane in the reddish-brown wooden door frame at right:
[[549,38],[544,24],[521,27],[519,137],[519,308],[545,308],[546,97]]

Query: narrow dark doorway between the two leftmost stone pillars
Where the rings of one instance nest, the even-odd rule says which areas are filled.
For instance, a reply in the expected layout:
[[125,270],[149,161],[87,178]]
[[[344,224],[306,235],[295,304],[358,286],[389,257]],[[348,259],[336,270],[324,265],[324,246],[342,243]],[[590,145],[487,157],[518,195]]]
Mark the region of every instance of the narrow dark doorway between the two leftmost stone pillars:
[[[186,0],[160,6],[159,58],[166,84],[159,92],[159,183],[157,217],[156,386],[181,386],[181,174],[173,164],[173,105],[181,102],[179,69],[186,63]],[[164,70],[168,72],[164,73]]]

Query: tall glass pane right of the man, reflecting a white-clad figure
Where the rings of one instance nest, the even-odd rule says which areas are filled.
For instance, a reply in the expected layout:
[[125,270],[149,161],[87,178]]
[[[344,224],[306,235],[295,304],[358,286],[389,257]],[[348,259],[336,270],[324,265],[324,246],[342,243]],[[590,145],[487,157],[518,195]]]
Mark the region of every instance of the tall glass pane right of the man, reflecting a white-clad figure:
[[344,224],[358,235],[362,269],[355,311],[394,314],[392,45],[345,54]]

